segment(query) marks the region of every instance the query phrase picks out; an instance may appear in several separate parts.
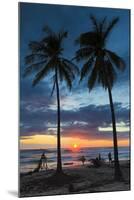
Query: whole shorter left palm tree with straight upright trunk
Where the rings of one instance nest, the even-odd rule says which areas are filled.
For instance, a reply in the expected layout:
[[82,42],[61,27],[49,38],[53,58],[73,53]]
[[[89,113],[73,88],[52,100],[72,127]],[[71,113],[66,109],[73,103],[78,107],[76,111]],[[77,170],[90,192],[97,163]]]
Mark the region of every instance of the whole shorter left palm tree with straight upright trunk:
[[35,72],[32,85],[36,86],[49,73],[52,74],[53,87],[57,94],[57,173],[62,173],[61,161],[61,138],[60,138],[60,90],[59,83],[63,80],[69,89],[72,88],[72,81],[78,68],[70,60],[64,58],[63,40],[67,37],[66,31],[54,33],[49,27],[43,29],[45,37],[40,41],[32,41],[29,43],[30,54],[25,57],[27,65],[24,76],[31,75]]

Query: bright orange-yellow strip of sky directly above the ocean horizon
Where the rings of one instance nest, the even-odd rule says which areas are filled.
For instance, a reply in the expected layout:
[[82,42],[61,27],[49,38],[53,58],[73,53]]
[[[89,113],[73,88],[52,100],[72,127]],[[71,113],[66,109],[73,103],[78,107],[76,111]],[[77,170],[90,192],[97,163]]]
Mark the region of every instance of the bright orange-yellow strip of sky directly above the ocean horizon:
[[[62,147],[71,148],[74,144],[78,147],[110,147],[113,146],[111,139],[80,139],[72,137],[61,138]],[[128,146],[129,139],[120,139],[118,141],[119,146]],[[20,139],[21,149],[31,148],[52,148],[56,147],[56,136],[52,135],[34,135],[28,136],[25,139]]]

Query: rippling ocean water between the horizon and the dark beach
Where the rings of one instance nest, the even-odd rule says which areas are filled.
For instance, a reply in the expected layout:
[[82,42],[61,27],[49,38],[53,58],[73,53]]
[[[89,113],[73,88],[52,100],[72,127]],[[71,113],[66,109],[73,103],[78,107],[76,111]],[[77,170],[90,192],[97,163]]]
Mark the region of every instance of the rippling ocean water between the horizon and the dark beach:
[[[39,163],[41,154],[45,152],[48,161],[48,168],[56,168],[56,159],[57,153],[56,149],[30,149],[30,150],[20,150],[20,172],[28,172],[35,169]],[[111,152],[113,157],[113,148],[112,147],[89,147],[89,148],[80,148],[77,150],[62,149],[62,164],[63,167],[70,167],[74,165],[81,165],[79,158],[85,156],[86,163],[89,163],[89,160],[96,158],[98,154],[101,154],[101,157],[108,161],[108,153]],[[129,147],[119,147],[119,160],[129,160],[130,159]],[[67,164],[68,165],[67,165]],[[71,165],[69,165],[69,163]]]

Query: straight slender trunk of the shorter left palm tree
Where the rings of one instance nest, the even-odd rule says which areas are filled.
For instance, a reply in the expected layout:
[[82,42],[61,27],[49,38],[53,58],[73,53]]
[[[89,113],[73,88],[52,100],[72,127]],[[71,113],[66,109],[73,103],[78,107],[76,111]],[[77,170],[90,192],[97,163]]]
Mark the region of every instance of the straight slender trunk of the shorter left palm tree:
[[60,93],[58,84],[58,75],[55,75],[56,91],[57,91],[57,173],[62,172],[61,162],[61,141],[60,141]]

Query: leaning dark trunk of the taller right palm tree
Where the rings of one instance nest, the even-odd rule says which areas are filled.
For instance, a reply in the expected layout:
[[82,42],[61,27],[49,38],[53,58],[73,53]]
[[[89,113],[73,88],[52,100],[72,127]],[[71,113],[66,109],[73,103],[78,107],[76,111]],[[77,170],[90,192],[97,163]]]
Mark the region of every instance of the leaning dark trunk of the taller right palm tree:
[[108,94],[109,94],[109,101],[110,101],[110,108],[111,108],[111,117],[112,117],[112,126],[113,126],[113,144],[114,144],[114,178],[115,180],[122,179],[122,173],[120,170],[119,158],[118,158],[118,143],[117,143],[117,131],[116,131],[116,119],[114,113],[114,105],[112,99],[112,92],[111,88],[108,84]]

